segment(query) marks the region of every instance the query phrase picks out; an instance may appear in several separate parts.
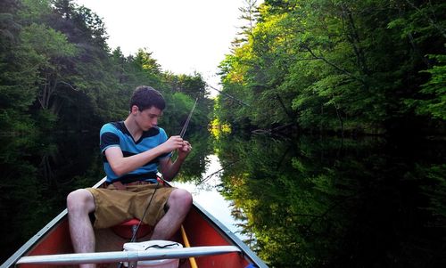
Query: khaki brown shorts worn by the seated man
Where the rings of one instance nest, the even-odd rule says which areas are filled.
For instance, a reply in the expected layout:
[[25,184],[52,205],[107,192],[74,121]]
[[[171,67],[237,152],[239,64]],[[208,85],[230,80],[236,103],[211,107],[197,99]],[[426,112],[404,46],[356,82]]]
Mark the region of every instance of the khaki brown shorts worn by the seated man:
[[[107,188],[87,188],[95,198],[95,229],[108,228],[133,218],[154,226],[165,214],[170,192],[176,189],[160,184],[155,192],[156,187],[157,184],[128,185],[127,191],[121,191],[110,184]],[[153,192],[152,203],[142,219]]]

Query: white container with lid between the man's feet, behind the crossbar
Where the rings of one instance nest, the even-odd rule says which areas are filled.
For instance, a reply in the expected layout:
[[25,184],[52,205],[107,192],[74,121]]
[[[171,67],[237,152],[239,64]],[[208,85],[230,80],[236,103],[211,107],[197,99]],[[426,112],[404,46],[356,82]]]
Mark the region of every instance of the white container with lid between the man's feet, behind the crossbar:
[[[125,243],[124,250],[128,251],[148,251],[157,249],[169,249],[169,248],[183,248],[178,242],[169,240],[151,240],[138,243]],[[151,261],[139,261],[137,264],[138,268],[178,268],[178,259],[162,259],[162,260],[151,260]],[[124,264],[128,266],[128,264]]]

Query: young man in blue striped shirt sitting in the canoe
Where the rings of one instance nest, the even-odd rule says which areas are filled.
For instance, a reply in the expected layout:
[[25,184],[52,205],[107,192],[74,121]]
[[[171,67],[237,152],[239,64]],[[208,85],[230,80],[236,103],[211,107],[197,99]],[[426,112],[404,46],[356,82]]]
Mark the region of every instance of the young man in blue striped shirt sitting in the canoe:
[[[95,251],[93,228],[107,228],[131,218],[154,226],[151,240],[169,240],[178,230],[192,205],[188,191],[160,187],[156,172],[170,181],[192,150],[180,136],[167,138],[158,127],[165,108],[164,99],[150,86],[136,88],[130,113],[124,121],[105,124],[101,129],[103,166],[107,189],[79,189],[67,197],[70,236],[75,252]],[[178,150],[172,163],[171,152]],[[144,215],[152,195],[153,200]],[[89,214],[95,214],[92,225]],[[84,264],[81,267],[95,267]]]

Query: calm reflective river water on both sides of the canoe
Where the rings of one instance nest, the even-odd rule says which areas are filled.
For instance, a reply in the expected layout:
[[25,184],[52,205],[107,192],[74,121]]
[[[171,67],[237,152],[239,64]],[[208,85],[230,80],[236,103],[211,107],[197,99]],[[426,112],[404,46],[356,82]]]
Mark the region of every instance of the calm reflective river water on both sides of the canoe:
[[[103,177],[97,135],[1,137],[3,262]],[[445,267],[446,142],[192,134],[176,185],[272,267]]]

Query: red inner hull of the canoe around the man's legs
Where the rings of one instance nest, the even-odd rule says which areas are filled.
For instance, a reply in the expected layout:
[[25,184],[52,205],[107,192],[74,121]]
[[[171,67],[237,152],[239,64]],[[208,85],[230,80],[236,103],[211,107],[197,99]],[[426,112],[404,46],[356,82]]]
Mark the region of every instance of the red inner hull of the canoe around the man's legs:
[[[186,216],[184,222],[187,238],[191,244],[191,247],[200,246],[227,246],[235,245],[230,240],[225,231],[219,230],[214,223],[202,215],[202,211],[197,207],[193,207],[189,214]],[[130,228],[130,227],[129,227]],[[96,236],[96,251],[120,251],[122,245],[128,240],[122,239],[116,235],[111,229],[102,229],[95,231]],[[148,240],[150,233],[139,241]],[[171,239],[185,244],[181,239],[181,235],[178,233]],[[67,216],[64,215],[59,223],[54,225],[50,231],[45,233],[38,242],[31,248],[28,253],[23,256],[38,256],[38,255],[52,255],[52,254],[65,254],[73,253],[71,247],[70,232],[68,226]],[[251,260],[248,259],[246,254],[229,253],[218,256],[201,256],[195,258],[198,267],[247,267]],[[57,267],[49,264],[17,264],[20,268],[44,268],[44,267]],[[63,267],[78,267],[77,265],[63,265]],[[116,268],[117,264],[97,264],[98,268],[113,267]],[[190,263],[187,259],[181,259],[181,268],[190,267]]]

